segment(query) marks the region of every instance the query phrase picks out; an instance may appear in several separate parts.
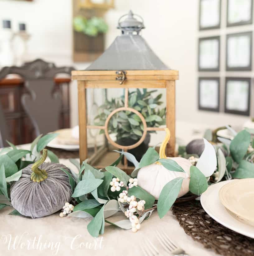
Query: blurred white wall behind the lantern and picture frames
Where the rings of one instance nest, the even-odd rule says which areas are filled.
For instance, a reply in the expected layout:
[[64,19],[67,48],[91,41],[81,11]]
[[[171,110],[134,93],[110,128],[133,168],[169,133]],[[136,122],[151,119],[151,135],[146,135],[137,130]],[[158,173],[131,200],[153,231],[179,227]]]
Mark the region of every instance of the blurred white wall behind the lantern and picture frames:
[[[116,29],[118,18],[132,9],[144,19],[146,28],[142,36],[150,47],[170,68],[180,72],[180,80],[176,84],[176,119],[185,123],[200,123],[203,127],[239,125],[248,118],[197,109],[197,40],[206,33],[202,32],[204,34],[201,35],[198,31],[198,2],[198,0],[115,0],[115,9],[105,15],[109,24],[106,46],[109,46],[120,34]],[[222,21],[224,21],[226,0],[222,2]],[[11,19],[14,30],[17,30],[18,22],[27,24],[27,30],[32,35],[29,42],[30,59],[41,57],[54,61],[57,65],[74,65],[77,69],[85,69],[88,63],[72,62],[71,13],[71,0],[0,1],[0,20]],[[225,26],[223,24],[222,22],[222,26]],[[253,26],[249,25],[249,27],[252,29]],[[223,30],[214,30],[214,35],[218,33],[223,33]],[[223,59],[221,61],[223,62]],[[224,65],[222,64],[221,66]],[[223,76],[223,72],[220,75]],[[76,85],[71,86],[71,92],[72,125],[75,125],[78,122]]]

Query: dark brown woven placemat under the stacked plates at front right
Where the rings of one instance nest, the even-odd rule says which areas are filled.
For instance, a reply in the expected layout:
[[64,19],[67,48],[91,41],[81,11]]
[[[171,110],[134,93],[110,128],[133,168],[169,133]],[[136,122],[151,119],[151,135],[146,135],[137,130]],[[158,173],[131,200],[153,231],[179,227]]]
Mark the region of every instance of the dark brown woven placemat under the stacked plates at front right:
[[205,248],[225,256],[254,255],[254,239],[219,224],[206,214],[200,201],[174,204],[172,210],[185,233]]

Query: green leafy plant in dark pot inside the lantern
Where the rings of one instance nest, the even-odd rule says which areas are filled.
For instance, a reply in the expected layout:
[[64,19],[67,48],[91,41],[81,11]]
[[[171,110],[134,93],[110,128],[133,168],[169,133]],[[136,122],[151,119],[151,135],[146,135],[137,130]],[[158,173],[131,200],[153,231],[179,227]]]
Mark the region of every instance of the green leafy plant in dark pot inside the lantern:
[[[139,111],[149,127],[159,127],[166,124],[166,108],[159,108],[163,103],[160,101],[162,94],[153,97],[153,94],[157,90],[143,91],[137,89],[132,91],[128,95],[129,107]],[[106,102],[99,107],[99,114],[95,117],[95,125],[105,125],[106,118],[116,108],[124,107],[124,96],[120,98],[112,98],[111,101]],[[117,143],[120,145],[133,145],[136,143],[143,134],[143,123],[138,115],[130,111],[120,111],[115,113],[108,124],[109,134],[116,134]],[[101,130],[100,133],[104,133]],[[133,154],[138,161],[148,149],[148,143],[150,141],[150,133],[155,131],[148,131],[146,139],[137,148],[128,150],[129,153]]]

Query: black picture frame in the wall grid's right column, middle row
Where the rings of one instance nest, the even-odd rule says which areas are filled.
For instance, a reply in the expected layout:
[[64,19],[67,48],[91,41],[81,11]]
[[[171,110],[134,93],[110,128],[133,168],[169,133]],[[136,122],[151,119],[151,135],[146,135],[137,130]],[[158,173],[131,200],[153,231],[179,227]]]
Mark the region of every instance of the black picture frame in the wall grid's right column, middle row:
[[[228,39],[231,37],[240,37],[243,35],[250,37],[250,52],[249,52],[250,64],[246,67],[243,67],[243,66],[229,67],[228,66]],[[226,71],[251,71],[251,70],[252,70],[252,31],[228,34],[227,40],[226,40]]]

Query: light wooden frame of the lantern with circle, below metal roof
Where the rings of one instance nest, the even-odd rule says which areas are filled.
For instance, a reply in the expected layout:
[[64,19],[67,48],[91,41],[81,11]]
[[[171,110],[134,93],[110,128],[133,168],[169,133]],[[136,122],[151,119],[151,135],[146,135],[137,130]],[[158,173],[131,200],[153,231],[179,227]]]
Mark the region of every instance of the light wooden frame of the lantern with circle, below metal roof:
[[[80,162],[87,159],[87,129],[103,129],[111,145],[127,151],[140,145],[147,131],[164,130],[161,127],[147,127],[142,114],[128,106],[129,88],[165,88],[166,89],[166,127],[170,130],[171,138],[167,144],[166,154],[174,156],[175,153],[175,81],[178,80],[176,70],[85,70],[72,71],[72,79],[78,81],[78,114],[79,114],[79,156]],[[87,88],[125,88],[125,106],[115,109],[107,117],[105,126],[87,125]],[[144,125],[143,135],[134,145],[122,146],[111,140],[107,125],[110,118],[118,111],[131,111],[137,114]],[[98,154],[98,153],[97,153]],[[124,160],[125,170],[128,170],[127,159]],[[133,169],[133,168],[132,168]]]

